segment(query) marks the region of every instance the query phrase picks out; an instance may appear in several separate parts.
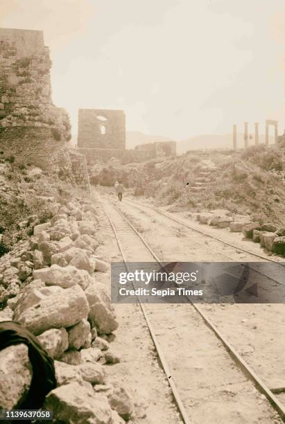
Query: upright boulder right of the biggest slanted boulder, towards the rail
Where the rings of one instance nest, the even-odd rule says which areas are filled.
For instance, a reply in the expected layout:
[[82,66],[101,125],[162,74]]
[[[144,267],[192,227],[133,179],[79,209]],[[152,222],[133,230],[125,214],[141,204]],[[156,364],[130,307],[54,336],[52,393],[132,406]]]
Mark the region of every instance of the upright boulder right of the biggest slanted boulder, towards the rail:
[[86,292],[89,303],[88,319],[92,327],[96,326],[98,334],[109,334],[118,328],[118,322],[111,308],[109,294],[102,283],[92,282]]

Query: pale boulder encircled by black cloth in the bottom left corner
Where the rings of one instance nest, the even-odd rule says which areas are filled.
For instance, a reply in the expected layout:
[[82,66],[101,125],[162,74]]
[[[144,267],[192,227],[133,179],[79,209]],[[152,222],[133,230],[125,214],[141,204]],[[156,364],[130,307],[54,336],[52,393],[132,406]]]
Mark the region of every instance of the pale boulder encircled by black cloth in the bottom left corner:
[[24,400],[31,385],[32,372],[25,344],[0,351],[0,409],[13,409]]

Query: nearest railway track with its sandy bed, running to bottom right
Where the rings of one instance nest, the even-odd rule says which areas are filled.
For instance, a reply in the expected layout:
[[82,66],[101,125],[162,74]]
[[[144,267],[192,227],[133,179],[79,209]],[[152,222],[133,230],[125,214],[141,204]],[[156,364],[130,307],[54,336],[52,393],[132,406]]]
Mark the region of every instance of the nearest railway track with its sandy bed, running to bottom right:
[[[162,262],[121,211],[106,200],[101,204],[125,264]],[[275,390],[266,386],[199,306],[139,305],[184,423],[278,423],[270,404],[284,420],[285,408]]]

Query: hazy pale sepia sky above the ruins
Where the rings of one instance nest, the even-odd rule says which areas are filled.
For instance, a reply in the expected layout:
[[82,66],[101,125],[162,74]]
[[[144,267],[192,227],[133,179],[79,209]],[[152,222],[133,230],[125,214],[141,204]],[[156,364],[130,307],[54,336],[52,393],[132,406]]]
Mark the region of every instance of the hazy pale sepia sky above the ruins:
[[177,140],[285,128],[284,0],[0,0],[0,26],[44,30],[74,133],[79,107]]

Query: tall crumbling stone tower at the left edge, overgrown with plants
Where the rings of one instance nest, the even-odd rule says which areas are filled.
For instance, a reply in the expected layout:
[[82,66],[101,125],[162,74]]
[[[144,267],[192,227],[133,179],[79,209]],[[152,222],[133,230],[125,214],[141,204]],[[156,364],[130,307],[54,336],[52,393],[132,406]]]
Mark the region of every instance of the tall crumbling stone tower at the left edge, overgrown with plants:
[[0,69],[0,149],[17,153],[17,160],[21,154],[39,160],[42,168],[55,165],[71,125],[51,100],[51,60],[42,31],[0,28]]

